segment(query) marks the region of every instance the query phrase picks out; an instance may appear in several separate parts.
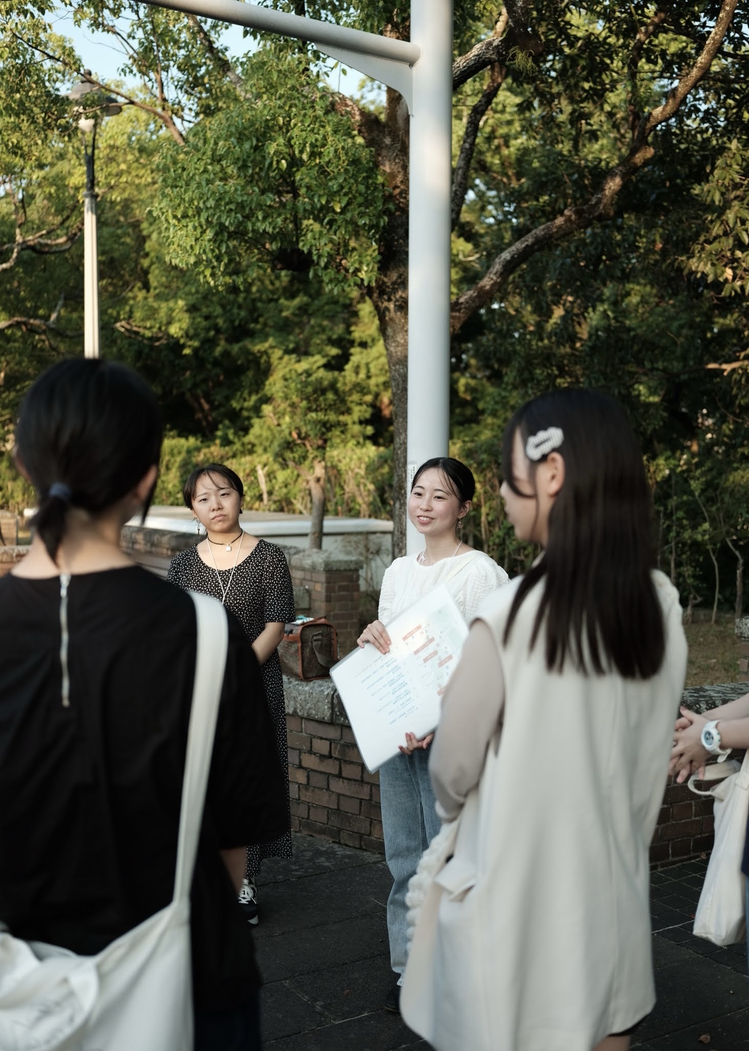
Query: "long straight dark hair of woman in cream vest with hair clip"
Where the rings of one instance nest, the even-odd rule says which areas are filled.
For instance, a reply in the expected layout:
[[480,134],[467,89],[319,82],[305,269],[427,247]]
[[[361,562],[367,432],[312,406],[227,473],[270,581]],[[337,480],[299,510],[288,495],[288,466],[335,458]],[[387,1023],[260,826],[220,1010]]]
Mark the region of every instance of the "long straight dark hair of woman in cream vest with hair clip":
[[[649,679],[663,663],[665,628],[651,577],[650,490],[637,438],[624,410],[605,394],[566,389],[534,398],[504,431],[504,478],[518,496],[525,494],[513,478],[515,434],[524,450],[529,437],[549,428],[563,435],[556,451],[564,482],[549,512],[546,550],[516,592],[504,641],[543,581],[530,648],[543,625],[549,671],[561,672],[569,657],[586,675],[615,668],[625,679]],[[549,452],[529,460],[534,483]]]

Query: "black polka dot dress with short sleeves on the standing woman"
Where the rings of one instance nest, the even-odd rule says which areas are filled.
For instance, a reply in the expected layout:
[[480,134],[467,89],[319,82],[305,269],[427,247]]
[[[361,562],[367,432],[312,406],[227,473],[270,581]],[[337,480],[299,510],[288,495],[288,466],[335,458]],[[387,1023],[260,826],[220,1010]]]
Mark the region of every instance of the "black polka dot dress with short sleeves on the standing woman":
[[[231,569],[219,570],[226,588]],[[221,588],[216,571],[206,565],[196,548],[188,548],[174,555],[169,564],[169,580],[185,591],[202,592],[221,601]],[[226,594],[225,605],[240,619],[250,642],[254,642],[266,624],[294,619],[294,592],[286,556],[280,548],[267,540],[258,540],[251,554],[238,562],[231,588]],[[263,680],[268,706],[273,717],[278,742],[278,756],[287,771],[286,706],[284,680],[278,654],[272,653],[263,665]],[[289,828],[291,815],[289,813]],[[252,843],[247,850],[247,875],[256,875],[264,858],[291,858],[291,831],[269,843]]]

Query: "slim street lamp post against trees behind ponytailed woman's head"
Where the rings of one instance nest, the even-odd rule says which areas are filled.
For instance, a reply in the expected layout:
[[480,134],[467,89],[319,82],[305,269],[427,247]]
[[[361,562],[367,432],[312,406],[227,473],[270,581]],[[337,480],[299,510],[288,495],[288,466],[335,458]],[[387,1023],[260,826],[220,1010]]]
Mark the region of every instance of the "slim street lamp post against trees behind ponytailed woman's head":
[[[90,76],[90,69],[84,69],[83,79],[69,92],[69,98],[75,102],[100,90],[91,83]],[[78,126],[81,129],[86,165],[86,189],[83,194],[83,353],[86,357],[99,357],[99,249],[95,174],[97,128],[101,117],[115,117],[122,111],[122,106],[109,97],[91,98],[90,103],[86,108],[78,107],[81,115]],[[86,139],[89,135],[90,149]]]

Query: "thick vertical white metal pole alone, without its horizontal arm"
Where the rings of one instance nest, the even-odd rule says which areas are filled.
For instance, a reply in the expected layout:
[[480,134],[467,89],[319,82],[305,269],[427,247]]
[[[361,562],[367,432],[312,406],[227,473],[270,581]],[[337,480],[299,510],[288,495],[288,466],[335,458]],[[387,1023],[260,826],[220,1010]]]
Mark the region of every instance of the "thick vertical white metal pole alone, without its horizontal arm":
[[[412,0],[414,66],[409,180],[408,488],[450,437],[450,194],[453,0]],[[407,552],[423,548],[408,523]]]

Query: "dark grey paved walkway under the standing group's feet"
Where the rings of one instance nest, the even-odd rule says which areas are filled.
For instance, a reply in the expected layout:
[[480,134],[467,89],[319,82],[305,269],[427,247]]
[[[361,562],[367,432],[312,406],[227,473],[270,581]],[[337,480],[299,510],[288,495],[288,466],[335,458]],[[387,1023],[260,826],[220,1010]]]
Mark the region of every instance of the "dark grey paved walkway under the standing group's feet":
[[[267,1051],[428,1051],[382,1009],[391,881],[380,856],[305,836],[294,837],[294,854],[264,863],[258,881]],[[632,1051],[749,1051],[745,946],[720,949],[691,934],[705,867],[652,874],[659,1002]]]

